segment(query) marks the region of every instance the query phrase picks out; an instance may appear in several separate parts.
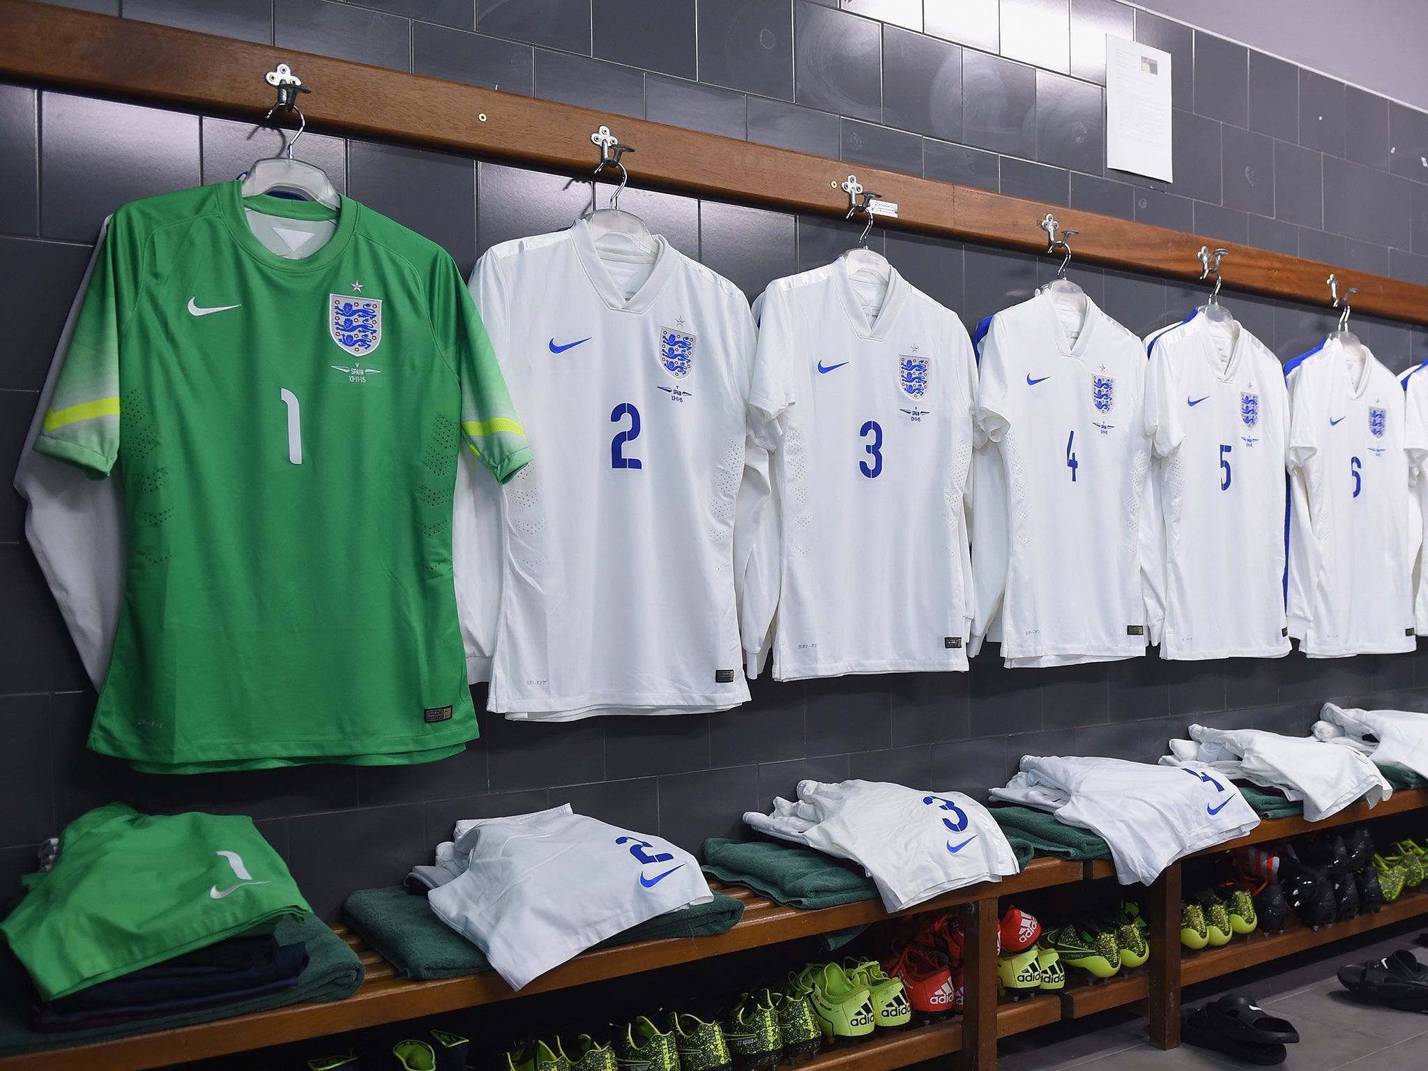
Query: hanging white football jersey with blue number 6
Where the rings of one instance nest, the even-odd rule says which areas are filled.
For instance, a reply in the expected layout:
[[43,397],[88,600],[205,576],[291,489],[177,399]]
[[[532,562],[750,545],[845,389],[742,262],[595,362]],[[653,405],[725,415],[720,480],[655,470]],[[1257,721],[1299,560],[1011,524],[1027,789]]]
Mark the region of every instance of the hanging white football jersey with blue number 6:
[[[1358,348],[1361,353],[1354,353]],[[1311,658],[1414,650],[1404,390],[1332,336],[1289,381],[1289,635]]]

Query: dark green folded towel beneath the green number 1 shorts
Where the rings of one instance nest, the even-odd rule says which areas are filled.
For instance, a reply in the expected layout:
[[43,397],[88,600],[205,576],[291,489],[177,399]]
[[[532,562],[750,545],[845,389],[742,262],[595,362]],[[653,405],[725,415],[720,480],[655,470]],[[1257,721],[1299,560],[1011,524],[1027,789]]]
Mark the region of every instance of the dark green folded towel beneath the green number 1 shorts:
[[67,1030],[63,1034],[37,1034],[29,1027],[29,1005],[36,1000],[34,987],[20,961],[6,950],[0,954],[0,1055],[13,1052],[37,1052],[70,1045],[87,1045],[96,1041],[111,1041],[133,1034],[147,1034],[171,1027],[187,1027],[194,1022],[211,1022],[251,1011],[283,1008],[288,1004],[311,1001],[340,1001],[351,997],[361,987],[363,965],[347,942],[318,920],[281,918],[273,931],[278,944],[306,944],[307,970],[297,985],[280,992],[223,1004],[216,1008],[184,1011],[177,1015],[139,1020],[117,1027],[90,1027],[89,1030]]

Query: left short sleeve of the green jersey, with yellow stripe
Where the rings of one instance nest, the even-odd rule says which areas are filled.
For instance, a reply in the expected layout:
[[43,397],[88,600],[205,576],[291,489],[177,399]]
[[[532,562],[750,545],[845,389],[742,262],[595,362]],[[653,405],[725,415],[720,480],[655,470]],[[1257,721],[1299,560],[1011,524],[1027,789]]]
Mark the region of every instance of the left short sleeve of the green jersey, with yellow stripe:
[[107,476],[119,460],[119,340],[134,307],[143,243],[114,214],[94,258],[64,368],[34,448]]

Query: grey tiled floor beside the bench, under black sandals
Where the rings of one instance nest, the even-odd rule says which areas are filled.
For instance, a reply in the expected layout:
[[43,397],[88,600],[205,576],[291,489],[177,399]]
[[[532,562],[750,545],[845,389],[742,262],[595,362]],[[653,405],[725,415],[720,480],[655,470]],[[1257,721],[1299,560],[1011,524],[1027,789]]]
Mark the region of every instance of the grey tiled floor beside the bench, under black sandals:
[[[1272,971],[1259,968],[1208,982],[1187,991],[1185,1005],[1222,992],[1254,997],[1269,1014],[1289,1020],[1299,1031],[1299,1044],[1289,1047],[1284,1064],[1294,1071],[1428,1067],[1428,1015],[1355,1004],[1345,998],[1334,977],[1339,964],[1377,960],[1395,948],[1414,948],[1421,960],[1428,960],[1428,950],[1414,945],[1421,930],[1421,921],[1409,922],[1387,937],[1368,934],[1292,957]],[[1162,1052],[1148,1044],[1144,1020],[1107,1012],[1007,1038],[998,1067],[1002,1071],[1220,1071],[1248,1064],[1190,1045]]]

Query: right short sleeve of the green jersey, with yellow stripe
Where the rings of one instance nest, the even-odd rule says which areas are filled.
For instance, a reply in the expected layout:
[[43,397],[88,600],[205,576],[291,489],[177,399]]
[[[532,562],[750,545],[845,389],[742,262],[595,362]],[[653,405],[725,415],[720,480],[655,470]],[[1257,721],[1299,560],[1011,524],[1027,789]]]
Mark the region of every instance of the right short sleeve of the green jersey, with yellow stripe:
[[461,437],[481,464],[506,483],[530,464],[531,451],[491,337],[450,257],[437,261],[430,300],[443,356],[461,378]]

